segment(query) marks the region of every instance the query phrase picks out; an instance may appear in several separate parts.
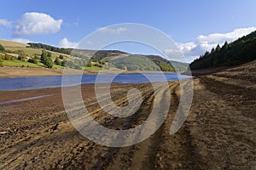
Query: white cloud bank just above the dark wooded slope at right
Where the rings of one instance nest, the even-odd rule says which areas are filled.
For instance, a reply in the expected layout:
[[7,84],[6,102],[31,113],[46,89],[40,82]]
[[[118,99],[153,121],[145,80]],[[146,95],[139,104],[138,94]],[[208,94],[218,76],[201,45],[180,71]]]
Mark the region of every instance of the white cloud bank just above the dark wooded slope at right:
[[246,36],[255,30],[256,27],[249,27],[239,28],[228,33],[214,33],[207,36],[201,35],[196,38],[195,42],[177,43],[177,47],[190,62],[206,51],[211,51],[218,44],[223,45],[225,41],[233,42],[239,37]]

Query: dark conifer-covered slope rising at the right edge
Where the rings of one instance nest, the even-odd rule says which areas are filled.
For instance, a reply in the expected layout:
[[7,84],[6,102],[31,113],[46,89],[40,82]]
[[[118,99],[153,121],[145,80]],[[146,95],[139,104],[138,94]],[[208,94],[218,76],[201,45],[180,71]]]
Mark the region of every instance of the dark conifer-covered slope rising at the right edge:
[[237,39],[235,42],[225,42],[212,48],[212,51],[201,55],[189,66],[191,70],[216,68],[222,66],[241,65],[256,59],[256,31]]

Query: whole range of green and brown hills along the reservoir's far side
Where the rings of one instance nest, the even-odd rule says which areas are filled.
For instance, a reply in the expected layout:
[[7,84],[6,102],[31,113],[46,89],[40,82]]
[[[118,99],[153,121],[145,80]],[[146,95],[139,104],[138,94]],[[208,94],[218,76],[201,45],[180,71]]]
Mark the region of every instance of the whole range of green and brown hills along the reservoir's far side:
[[40,60],[44,50],[50,54],[52,61],[57,60],[53,63],[54,68],[64,68],[64,65],[83,70],[100,70],[103,66],[125,71],[185,71],[188,68],[187,63],[170,61],[159,55],[129,54],[119,50],[57,48],[43,43],[25,44],[5,40],[1,40],[0,44],[5,48],[1,54],[3,66],[44,68],[46,65]]

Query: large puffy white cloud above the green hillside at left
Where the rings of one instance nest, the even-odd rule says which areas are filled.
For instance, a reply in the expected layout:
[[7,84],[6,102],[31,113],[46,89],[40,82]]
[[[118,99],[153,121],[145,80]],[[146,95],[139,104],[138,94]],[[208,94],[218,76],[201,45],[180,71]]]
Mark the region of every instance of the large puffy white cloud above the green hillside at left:
[[49,14],[25,13],[16,23],[15,36],[56,33],[60,31],[62,21],[53,19]]

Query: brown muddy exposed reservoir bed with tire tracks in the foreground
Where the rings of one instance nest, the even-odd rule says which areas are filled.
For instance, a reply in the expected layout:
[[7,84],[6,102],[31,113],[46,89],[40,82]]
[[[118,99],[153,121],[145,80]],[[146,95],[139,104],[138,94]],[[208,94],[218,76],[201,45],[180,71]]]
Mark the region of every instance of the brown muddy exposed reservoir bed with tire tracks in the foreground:
[[[61,88],[0,91],[0,102],[54,94],[0,105],[0,169],[255,169],[255,72],[253,62],[195,78],[189,117],[173,135],[169,129],[180,90],[178,82],[170,82],[166,121],[150,138],[124,148],[95,144],[79,134],[67,118]],[[131,88],[143,92],[133,116],[104,114],[92,84],[82,86],[84,105],[106,127],[137,126],[148,117],[154,93],[150,84],[113,85],[116,105],[127,105]]]

